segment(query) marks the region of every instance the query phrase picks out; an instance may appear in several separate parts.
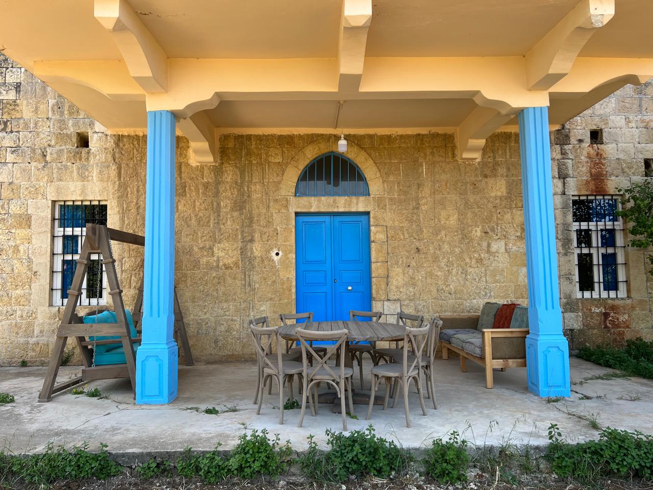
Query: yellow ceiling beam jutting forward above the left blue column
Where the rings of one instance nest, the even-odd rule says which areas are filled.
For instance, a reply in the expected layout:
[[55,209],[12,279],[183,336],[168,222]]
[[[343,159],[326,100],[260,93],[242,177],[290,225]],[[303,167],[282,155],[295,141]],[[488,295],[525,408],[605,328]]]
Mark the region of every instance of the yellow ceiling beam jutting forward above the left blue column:
[[146,92],[168,88],[168,57],[126,0],[95,0],[95,18],[112,34],[129,73]]

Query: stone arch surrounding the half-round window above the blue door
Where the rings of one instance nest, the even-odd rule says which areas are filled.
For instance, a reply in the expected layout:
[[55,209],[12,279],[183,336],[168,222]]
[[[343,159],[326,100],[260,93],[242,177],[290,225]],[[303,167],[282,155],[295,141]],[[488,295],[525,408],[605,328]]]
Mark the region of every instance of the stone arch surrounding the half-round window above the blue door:
[[[315,140],[299,150],[291,159],[283,173],[280,194],[295,196],[295,185],[304,167],[319,155],[327,152],[338,152],[338,136],[330,135]],[[363,172],[370,188],[370,196],[383,195],[383,181],[374,160],[357,144],[347,141],[347,152],[343,154],[353,160]]]

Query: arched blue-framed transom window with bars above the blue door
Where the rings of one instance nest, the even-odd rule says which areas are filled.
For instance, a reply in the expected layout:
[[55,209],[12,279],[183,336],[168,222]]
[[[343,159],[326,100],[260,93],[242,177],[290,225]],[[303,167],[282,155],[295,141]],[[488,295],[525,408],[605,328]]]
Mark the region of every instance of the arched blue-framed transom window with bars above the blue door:
[[367,180],[345,155],[329,152],[313,159],[297,179],[295,195],[359,196],[370,195]]

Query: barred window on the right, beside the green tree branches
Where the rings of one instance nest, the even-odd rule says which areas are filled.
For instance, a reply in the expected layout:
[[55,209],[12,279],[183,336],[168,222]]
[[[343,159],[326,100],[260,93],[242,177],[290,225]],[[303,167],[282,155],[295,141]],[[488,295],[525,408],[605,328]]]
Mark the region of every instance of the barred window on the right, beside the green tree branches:
[[619,195],[576,195],[571,200],[579,298],[626,297],[624,223]]

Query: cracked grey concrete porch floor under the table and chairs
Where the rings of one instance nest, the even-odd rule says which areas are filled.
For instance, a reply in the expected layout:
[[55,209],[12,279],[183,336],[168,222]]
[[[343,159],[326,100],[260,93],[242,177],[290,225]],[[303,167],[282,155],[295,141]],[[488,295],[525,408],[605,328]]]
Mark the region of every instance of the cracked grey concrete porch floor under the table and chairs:
[[[73,376],[78,368],[62,368],[59,380]],[[90,399],[69,393],[55,395],[49,403],[38,403],[37,394],[45,368],[0,368],[0,392],[16,397],[16,402],[0,406],[0,444],[13,451],[39,451],[48,441],[55,444],[80,444],[91,448],[100,442],[110,451],[174,451],[192,446],[212,449],[217,442],[223,449],[236,444],[244,429],[268,429],[290,440],[293,448],[306,448],[306,438],[314,434],[325,442],[325,429],[342,431],[340,414],[332,406],[321,405],[317,417],[310,412],[304,427],[296,427],[299,410],[285,412],[285,424],[278,423],[278,393],[265,395],[261,415],[252,404],[255,365],[231,362],[217,365],[180,367],[179,396],[166,406],[136,406],[126,380],[93,382],[110,399]],[[438,361],[436,393],[439,410],[426,400],[428,415],[422,416],[415,389],[411,389],[411,429],[406,428],[402,400],[396,408],[383,412],[375,407],[370,421],[366,406],[357,405],[359,419],[347,419],[349,430],[374,424],[377,434],[392,438],[405,447],[430,445],[430,440],[452,429],[471,443],[483,446],[545,444],[547,427],[558,423],[569,440],[596,438],[588,417],[602,426],[639,429],[653,434],[653,381],[640,378],[588,380],[611,372],[580,359],[571,359],[573,393],[569,399],[540,399],[526,389],[526,370],[496,371],[494,389],[485,388],[481,367],[468,363],[461,373],[458,361]],[[358,384],[358,376],[355,379]],[[367,384],[369,387],[369,383]],[[238,412],[206,415],[188,407],[218,408],[237,406]]]

